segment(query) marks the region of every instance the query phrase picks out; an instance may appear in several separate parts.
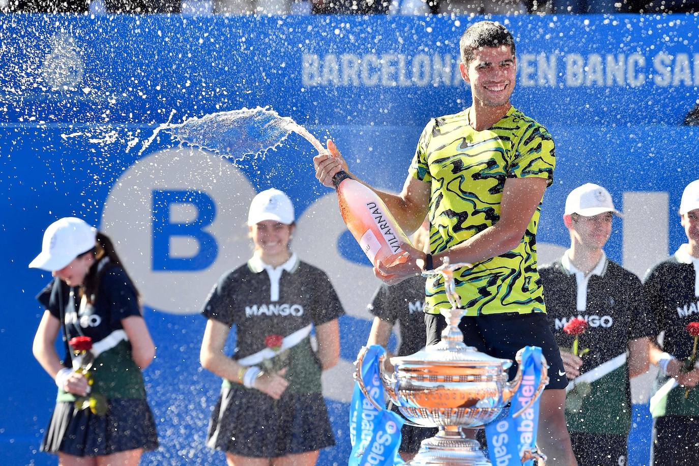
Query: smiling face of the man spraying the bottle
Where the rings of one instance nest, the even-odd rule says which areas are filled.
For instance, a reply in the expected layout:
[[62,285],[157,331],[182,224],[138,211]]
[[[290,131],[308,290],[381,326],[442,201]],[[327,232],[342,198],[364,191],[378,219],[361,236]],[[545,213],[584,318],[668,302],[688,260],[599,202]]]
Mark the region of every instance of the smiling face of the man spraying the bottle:
[[517,72],[510,45],[483,48],[460,68],[463,80],[471,85],[473,99],[488,107],[510,103]]

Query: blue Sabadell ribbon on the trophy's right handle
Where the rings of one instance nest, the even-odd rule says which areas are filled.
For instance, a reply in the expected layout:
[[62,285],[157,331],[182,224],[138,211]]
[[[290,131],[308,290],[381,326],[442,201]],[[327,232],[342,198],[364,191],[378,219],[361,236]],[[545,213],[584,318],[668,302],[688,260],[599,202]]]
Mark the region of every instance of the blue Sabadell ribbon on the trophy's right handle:
[[485,426],[488,453],[493,466],[533,466],[534,460],[523,463],[524,458],[536,451],[536,432],[539,425],[539,399],[537,398],[519,416],[519,411],[531,402],[537,392],[541,371],[541,348],[525,347],[521,354],[522,381],[510,402],[508,414],[496,418]]

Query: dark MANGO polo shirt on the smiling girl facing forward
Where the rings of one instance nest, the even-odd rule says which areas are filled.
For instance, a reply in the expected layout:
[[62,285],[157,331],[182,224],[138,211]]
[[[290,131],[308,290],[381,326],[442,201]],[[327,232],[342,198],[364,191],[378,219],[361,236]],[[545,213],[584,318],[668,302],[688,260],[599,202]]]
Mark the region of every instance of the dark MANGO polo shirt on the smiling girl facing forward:
[[[278,278],[271,278],[273,274]],[[296,255],[275,272],[259,259],[224,274],[214,286],[202,314],[236,325],[237,344],[231,356],[241,360],[266,349],[270,335],[287,337],[312,324],[319,326],[344,314],[328,276]],[[320,366],[310,339],[289,349],[285,378],[294,393],[319,393]],[[257,363],[254,365],[258,365]]]

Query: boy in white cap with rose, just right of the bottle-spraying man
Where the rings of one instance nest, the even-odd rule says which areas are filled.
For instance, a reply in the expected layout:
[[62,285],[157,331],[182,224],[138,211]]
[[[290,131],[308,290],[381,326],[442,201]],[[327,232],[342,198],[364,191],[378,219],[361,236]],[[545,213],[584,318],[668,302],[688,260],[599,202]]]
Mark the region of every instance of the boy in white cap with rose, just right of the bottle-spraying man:
[[[648,367],[652,332],[640,279],[607,259],[603,249],[615,214],[621,216],[607,189],[592,183],[573,189],[563,214],[570,249],[539,268],[547,313],[570,380],[565,418],[580,466],[626,464],[629,379]],[[574,337],[563,331],[574,317],[587,322],[579,335],[579,348],[587,351],[582,357],[571,354]]]

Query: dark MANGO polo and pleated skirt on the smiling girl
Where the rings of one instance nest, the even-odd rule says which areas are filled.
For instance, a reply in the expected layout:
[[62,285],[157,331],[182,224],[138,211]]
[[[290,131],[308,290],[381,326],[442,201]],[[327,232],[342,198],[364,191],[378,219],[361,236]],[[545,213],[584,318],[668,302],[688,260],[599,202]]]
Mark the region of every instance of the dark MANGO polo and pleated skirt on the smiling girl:
[[[256,256],[219,279],[202,314],[236,325],[231,357],[238,363],[263,370],[287,367],[284,378],[289,381],[276,402],[256,389],[224,381],[210,423],[209,446],[271,458],[334,444],[322,396],[322,369],[310,338],[313,327],[344,314],[325,272],[299,261],[296,254],[278,268]],[[283,338],[279,351],[266,347],[267,338],[274,335]]]

